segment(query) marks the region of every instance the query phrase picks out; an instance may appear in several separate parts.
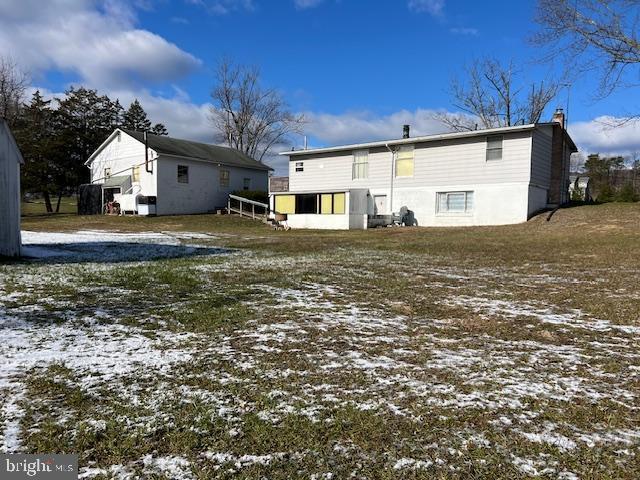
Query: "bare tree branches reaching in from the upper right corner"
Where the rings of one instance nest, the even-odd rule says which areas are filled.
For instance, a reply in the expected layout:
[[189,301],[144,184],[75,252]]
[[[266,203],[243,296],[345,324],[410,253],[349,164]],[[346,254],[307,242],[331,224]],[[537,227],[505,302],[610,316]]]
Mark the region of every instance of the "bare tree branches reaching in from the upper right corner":
[[599,70],[600,96],[638,86],[639,6],[638,0],[538,0],[542,29],[534,43],[551,47],[547,60],[560,57],[575,73]]

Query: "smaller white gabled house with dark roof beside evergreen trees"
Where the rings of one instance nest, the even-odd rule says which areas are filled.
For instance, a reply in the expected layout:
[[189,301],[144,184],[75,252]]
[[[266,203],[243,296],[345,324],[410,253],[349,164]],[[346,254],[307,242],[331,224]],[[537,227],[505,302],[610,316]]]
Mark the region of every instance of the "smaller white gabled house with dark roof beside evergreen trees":
[[266,191],[272,170],[232,148],[151,133],[145,140],[144,133],[124,129],[116,129],[86,165],[91,183],[102,187],[103,205],[114,200],[123,212],[137,212],[147,197],[156,197],[158,215],[212,212],[235,190]]

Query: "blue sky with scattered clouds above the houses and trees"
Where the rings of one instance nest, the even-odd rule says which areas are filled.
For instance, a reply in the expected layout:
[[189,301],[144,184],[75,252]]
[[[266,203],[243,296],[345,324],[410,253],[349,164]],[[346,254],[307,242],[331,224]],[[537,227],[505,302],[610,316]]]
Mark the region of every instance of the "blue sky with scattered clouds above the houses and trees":
[[[313,145],[443,131],[450,79],[487,56],[520,65],[523,83],[557,74],[529,43],[534,1],[0,0],[0,51],[54,95],[83,84],[140,98],[171,134],[210,141],[213,70],[223,56],[257,65],[266,86],[305,113]],[[640,131],[601,128],[638,91],[596,101],[595,76],[573,80],[570,121],[585,151],[640,151]],[[566,105],[563,91],[552,107]],[[549,112],[550,115],[551,112]],[[599,127],[600,125],[600,127]],[[294,139],[301,142],[300,139]]]

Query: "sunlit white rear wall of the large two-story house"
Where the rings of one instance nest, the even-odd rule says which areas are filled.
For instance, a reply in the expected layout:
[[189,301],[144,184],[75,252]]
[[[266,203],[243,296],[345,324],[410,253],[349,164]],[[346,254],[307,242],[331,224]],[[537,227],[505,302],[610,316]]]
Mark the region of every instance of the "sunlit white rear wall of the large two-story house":
[[[386,148],[369,151],[369,178],[352,180],[351,152],[303,155],[289,162],[290,191],[368,188],[371,198],[393,197],[392,210],[405,206],[419,225],[501,225],[524,222],[529,213],[532,132],[504,135],[502,160],[486,160],[484,137],[417,144],[414,175],[393,179],[391,153]],[[296,162],[304,172],[296,172]],[[549,160],[550,161],[550,160]],[[436,212],[438,192],[473,191],[474,210],[465,215]],[[373,201],[369,213],[373,213]]]

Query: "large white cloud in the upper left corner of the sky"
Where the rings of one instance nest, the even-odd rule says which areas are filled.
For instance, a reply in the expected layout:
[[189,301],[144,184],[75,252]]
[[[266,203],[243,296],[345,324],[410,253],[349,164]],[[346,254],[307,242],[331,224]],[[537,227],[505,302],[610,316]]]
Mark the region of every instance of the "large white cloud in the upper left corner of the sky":
[[171,81],[200,65],[135,21],[135,11],[120,0],[3,0],[0,51],[35,76],[72,72],[104,88]]

